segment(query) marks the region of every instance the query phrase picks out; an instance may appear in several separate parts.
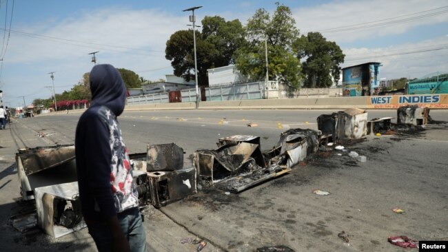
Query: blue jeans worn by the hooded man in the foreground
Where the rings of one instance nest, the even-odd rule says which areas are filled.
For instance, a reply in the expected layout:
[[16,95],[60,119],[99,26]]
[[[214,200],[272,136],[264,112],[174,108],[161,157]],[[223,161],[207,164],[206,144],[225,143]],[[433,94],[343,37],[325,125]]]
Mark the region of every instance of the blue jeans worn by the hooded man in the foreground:
[[[146,252],[146,235],[143,227],[140,211],[137,207],[118,213],[121,230],[128,239],[132,252]],[[99,222],[88,225],[89,233],[92,235],[99,252],[112,251],[112,235],[108,224]]]

